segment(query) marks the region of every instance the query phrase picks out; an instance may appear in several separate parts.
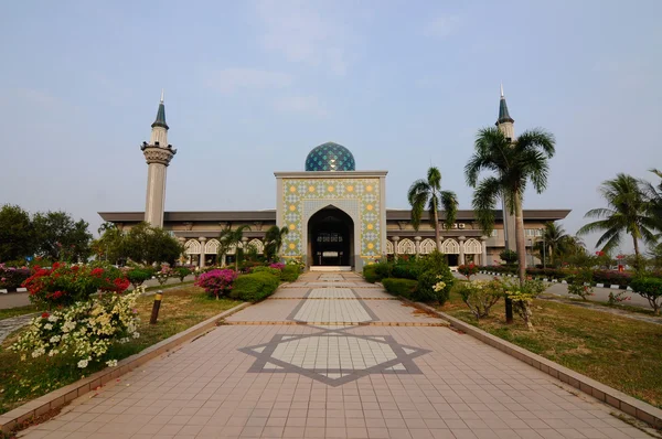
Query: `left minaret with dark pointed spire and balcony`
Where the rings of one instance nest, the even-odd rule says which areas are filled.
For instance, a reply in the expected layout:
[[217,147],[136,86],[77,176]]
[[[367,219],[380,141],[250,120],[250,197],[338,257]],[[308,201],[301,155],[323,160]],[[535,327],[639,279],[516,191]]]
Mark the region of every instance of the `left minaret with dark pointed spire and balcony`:
[[163,210],[166,206],[166,171],[170,160],[177,153],[172,144],[168,144],[168,124],[166,124],[166,106],[163,90],[157,111],[157,120],[152,124],[149,143],[140,147],[147,161],[147,202],[145,221],[154,227],[163,227]]

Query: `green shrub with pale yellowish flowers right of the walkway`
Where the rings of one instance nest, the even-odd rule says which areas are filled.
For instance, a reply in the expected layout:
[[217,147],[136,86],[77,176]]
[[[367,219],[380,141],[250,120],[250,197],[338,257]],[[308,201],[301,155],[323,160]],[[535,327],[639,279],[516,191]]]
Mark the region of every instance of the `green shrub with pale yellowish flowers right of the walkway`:
[[455,277],[446,264],[446,256],[437,250],[430,253],[418,263],[417,300],[424,302],[439,302],[444,304],[450,295]]

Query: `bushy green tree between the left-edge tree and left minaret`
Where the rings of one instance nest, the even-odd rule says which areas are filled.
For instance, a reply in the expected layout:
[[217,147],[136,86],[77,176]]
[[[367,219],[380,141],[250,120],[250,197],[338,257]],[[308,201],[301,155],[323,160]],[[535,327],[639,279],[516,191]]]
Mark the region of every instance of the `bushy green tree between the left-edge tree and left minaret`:
[[87,231],[87,222],[74,222],[68,213],[60,211],[36,213],[32,224],[38,254],[71,261],[86,260],[89,257],[92,234]]

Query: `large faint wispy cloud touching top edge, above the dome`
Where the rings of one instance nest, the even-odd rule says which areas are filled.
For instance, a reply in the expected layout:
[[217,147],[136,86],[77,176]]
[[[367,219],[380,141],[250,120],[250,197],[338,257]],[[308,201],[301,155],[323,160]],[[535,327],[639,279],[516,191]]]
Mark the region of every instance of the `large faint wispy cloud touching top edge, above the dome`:
[[348,32],[341,23],[332,23],[309,2],[299,0],[260,0],[257,14],[267,50],[291,62],[324,65],[337,75],[345,74]]

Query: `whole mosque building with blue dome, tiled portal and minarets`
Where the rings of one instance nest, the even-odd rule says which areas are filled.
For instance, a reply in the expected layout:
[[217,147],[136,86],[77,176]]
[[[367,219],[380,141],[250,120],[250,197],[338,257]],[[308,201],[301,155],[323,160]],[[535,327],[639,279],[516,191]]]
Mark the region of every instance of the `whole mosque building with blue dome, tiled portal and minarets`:
[[[496,126],[514,138],[503,90]],[[148,164],[145,212],[99,212],[106,222],[120,229],[145,221],[170,231],[184,246],[188,260],[201,267],[233,260],[236,249],[217,259],[221,231],[247,225],[242,246],[264,250],[265,232],[277,225],[287,227],[281,248],[284,259],[297,259],[311,270],[344,269],[361,271],[365,264],[384,257],[425,255],[436,248],[435,229],[424,213],[418,231],[412,225],[409,210],[386,207],[387,171],[356,171],[354,156],[345,147],[327,142],[306,158],[305,171],[275,172],[276,208],[264,211],[166,212],[167,170],[177,153],[168,143],[163,96],[151,125],[149,142],[140,149]],[[569,210],[525,210],[524,232],[527,248],[541,236],[545,223],[565,218]],[[444,218],[440,212],[440,220]],[[505,208],[495,212],[496,223],[484,236],[474,212],[460,210],[456,223],[442,231],[441,251],[449,265],[473,261],[492,265],[504,248],[514,249],[514,217]]]

